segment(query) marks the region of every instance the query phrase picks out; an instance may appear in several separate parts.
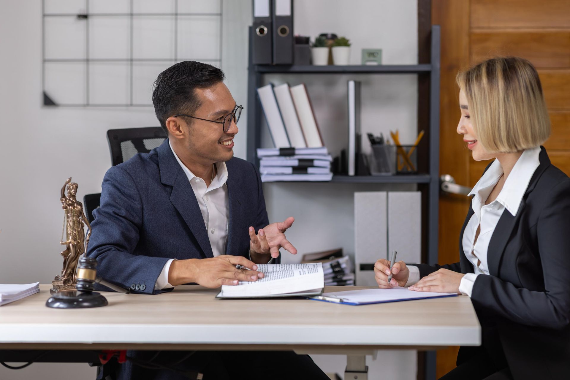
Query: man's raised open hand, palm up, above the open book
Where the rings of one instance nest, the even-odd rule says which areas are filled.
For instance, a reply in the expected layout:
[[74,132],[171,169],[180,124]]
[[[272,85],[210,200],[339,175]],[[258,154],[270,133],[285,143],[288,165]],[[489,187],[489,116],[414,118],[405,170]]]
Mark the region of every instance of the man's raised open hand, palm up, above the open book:
[[269,258],[261,255],[271,254],[272,258],[277,258],[279,257],[279,248],[281,247],[295,255],[297,253],[296,248],[293,247],[293,244],[287,240],[284,234],[287,228],[293,225],[293,222],[295,222],[295,218],[290,216],[283,222],[271,223],[265,228],[260,228],[257,235],[255,235],[254,228],[250,227],[251,259],[257,263],[267,263]]

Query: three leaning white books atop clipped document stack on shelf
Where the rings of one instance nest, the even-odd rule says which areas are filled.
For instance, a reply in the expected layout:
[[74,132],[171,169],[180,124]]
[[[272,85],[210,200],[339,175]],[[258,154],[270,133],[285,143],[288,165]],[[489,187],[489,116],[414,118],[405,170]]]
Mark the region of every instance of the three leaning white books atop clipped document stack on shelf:
[[331,162],[304,84],[257,89],[275,148],[258,149],[263,182],[330,181]]

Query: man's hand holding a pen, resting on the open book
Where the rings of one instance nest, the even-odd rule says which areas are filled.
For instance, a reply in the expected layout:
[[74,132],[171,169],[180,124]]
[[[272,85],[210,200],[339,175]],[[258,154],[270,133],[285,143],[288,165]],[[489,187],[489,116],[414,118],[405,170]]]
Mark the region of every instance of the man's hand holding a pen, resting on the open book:
[[[251,271],[235,265],[242,265]],[[170,264],[168,282],[177,286],[197,283],[206,288],[218,288],[222,285],[237,285],[238,281],[256,281],[263,278],[257,265],[243,256],[221,255],[210,259],[174,260]]]

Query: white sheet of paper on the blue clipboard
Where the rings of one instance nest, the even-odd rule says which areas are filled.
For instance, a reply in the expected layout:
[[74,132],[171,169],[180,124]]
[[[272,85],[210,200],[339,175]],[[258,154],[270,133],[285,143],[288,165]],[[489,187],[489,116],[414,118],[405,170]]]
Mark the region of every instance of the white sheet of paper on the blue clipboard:
[[363,289],[358,291],[323,293],[323,296],[342,299],[350,304],[372,304],[399,300],[413,300],[430,297],[450,296],[450,293],[416,292],[408,288],[396,287],[392,289]]

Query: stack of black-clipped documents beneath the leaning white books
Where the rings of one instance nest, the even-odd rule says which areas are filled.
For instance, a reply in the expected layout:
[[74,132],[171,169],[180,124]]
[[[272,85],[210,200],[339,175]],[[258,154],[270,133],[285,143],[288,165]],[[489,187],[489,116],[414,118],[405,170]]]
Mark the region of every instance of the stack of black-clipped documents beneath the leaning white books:
[[262,182],[331,181],[332,157],[327,148],[258,149]]

